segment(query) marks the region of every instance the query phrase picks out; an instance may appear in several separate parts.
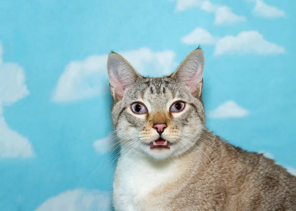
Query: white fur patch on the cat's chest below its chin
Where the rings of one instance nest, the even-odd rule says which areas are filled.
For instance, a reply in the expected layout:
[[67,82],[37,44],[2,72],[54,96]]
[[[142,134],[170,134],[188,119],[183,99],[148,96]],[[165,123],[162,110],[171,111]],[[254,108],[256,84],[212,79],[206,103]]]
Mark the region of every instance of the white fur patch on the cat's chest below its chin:
[[[150,210],[151,207],[145,207],[145,201],[149,201],[151,206],[159,203],[157,201],[161,199],[153,198],[150,194],[155,188],[177,178],[179,163],[180,160],[171,160],[162,165],[153,165],[147,157],[123,151],[118,160],[113,183],[115,210],[143,211],[144,208]],[[160,207],[153,207],[153,210],[155,209],[161,211]]]

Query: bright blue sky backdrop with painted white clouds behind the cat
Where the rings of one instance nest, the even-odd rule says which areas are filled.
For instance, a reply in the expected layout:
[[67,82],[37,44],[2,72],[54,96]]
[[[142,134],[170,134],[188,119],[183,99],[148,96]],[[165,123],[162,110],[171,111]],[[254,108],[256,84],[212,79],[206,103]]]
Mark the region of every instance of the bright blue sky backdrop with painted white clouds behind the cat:
[[207,127],[296,175],[296,1],[0,2],[0,210],[110,211],[106,59],[174,71],[205,53]]

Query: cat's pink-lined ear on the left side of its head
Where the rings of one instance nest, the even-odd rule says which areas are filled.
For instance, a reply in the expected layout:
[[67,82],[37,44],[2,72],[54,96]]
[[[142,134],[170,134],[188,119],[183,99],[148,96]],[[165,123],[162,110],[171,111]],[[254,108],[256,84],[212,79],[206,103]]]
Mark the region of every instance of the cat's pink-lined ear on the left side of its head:
[[114,100],[121,100],[123,90],[136,82],[140,76],[122,56],[112,52],[108,56],[107,70],[110,90]]

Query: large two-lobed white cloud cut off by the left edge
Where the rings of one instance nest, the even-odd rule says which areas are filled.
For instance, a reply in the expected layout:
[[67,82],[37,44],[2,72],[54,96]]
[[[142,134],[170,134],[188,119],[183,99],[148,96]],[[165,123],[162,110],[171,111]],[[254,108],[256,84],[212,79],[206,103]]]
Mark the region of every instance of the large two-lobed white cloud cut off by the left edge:
[[3,106],[10,106],[29,94],[23,69],[17,64],[3,62],[0,45],[0,159],[34,155],[28,139],[10,129],[2,116]]

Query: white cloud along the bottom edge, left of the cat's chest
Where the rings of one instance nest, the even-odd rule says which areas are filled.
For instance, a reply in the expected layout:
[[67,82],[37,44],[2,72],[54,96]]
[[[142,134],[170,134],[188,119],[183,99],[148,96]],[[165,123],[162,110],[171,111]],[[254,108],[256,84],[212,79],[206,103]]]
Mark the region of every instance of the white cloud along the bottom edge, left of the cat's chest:
[[99,190],[65,191],[42,203],[36,211],[110,211],[109,193]]

